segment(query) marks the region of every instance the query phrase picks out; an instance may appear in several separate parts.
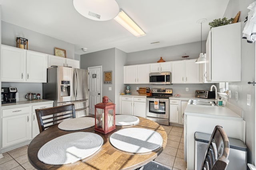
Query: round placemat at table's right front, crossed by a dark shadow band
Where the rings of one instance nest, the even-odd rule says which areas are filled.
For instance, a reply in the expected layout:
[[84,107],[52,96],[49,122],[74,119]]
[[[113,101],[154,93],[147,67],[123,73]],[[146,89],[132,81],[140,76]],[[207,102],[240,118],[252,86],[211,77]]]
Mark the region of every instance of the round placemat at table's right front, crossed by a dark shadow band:
[[110,143],[117,149],[132,153],[144,153],[162,146],[162,136],[150,129],[126,128],[113,133]]

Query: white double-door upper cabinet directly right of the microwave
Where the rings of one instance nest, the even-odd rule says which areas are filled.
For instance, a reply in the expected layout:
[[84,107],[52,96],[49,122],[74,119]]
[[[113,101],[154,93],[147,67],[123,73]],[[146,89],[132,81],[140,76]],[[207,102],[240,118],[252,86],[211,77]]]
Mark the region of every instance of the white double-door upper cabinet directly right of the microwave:
[[196,59],[172,61],[172,83],[199,83]]

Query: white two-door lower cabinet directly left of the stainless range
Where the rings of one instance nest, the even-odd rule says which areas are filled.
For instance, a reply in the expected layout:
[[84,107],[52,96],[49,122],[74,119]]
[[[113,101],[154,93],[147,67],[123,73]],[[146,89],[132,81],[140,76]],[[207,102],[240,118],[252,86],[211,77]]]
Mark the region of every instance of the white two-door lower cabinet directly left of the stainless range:
[[120,114],[134,115],[146,118],[146,97],[121,97]]

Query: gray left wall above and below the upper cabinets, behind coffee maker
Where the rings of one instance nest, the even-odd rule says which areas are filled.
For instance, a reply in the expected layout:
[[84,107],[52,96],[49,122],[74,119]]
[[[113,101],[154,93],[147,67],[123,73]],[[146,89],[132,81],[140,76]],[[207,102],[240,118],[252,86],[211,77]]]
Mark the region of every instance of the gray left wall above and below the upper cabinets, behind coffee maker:
[[[16,37],[22,37],[28,39],[28,49],[31,51],[54,55],[54,47],[58,47],[66,50],[67,58],[74,59],[76,57],[76,60],[80,60],[79,55],[74,55],[74,44],[67,43],[11,23],[1,21],[1,35],[2,44],[4,45],[16,47]],[[42,83],[2,82],[2,87],[9,86],[17,88],[20,100],[26,100],[25,94],[28,92],[42,94]]]

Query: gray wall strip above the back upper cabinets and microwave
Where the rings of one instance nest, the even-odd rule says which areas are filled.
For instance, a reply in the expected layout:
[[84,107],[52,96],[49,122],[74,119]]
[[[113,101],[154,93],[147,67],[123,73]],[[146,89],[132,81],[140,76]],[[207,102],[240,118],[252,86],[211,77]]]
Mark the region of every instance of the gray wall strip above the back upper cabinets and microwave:
[[[156,63],[160,57],[164,61],[182,60],[182,56],[189,55],[187,59],[197,59],[201,51],[201,41],[195,43],[187,43],[182,45],[174,45],[158,49],[138,51],[127,54],[126,65]],[[202,41],[202,53],[206,53],[206,41]]]

